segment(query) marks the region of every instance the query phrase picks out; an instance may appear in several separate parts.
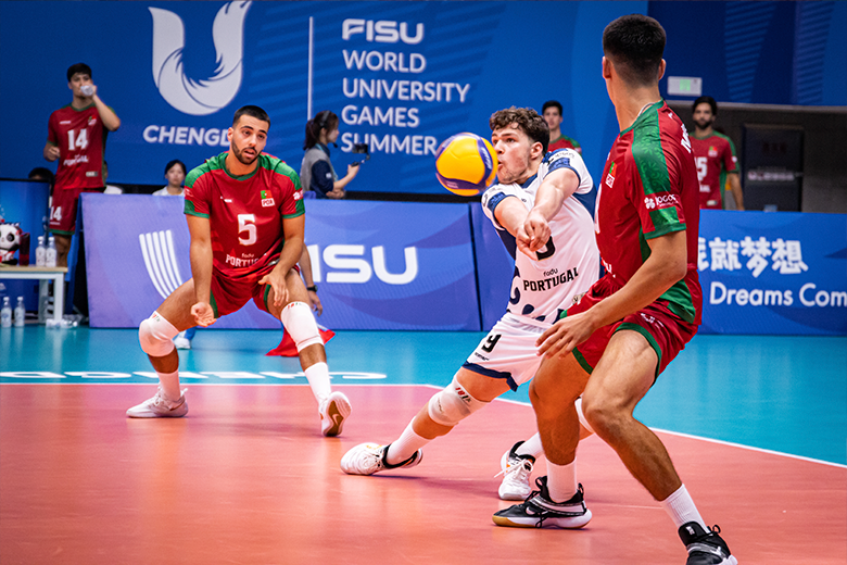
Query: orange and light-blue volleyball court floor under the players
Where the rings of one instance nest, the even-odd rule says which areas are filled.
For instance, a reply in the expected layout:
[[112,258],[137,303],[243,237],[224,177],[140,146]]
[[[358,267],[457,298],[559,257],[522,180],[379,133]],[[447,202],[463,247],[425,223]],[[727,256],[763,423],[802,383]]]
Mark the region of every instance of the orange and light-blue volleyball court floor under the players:
[[[491,515],[500,459],[534,431],[526,390],[425,448],[344,475],[388,442],[482,334],[339,331],[353,414],[323,438],[277,331],[201,330],[180,352],[190,412],[137,420],[155,378],[135,330],[0,330],[0,562],[682,564],[670,519],[595,437],[578,468],[592,522],[513,529]],[[636,416],[654,428],[742,564],[847,562],[847,339],[697,336]],[[542,475],[540,460],[534,475]]]

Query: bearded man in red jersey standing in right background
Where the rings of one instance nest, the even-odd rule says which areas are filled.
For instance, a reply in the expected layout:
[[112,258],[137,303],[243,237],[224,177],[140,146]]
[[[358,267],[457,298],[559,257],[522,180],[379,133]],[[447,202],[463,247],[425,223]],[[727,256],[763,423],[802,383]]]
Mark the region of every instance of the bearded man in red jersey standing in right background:
[[712,127],[718,117],[718,103],[710,96],[701,96],[692,104],[692,112],[694,135],[691,138],[691,149],[700,183],[700,208],[716,210],[725,208],[723,192],[729,173],[735,209],[744,210],[735,146],[729,137]]

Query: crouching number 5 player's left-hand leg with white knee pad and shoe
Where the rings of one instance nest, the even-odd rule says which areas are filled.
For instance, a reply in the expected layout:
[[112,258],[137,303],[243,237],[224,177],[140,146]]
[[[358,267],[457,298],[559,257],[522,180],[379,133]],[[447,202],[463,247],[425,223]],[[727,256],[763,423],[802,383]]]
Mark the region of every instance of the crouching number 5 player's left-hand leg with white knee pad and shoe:
[[179,331],[197,325],[191,306],[194,304],[194,279],[182,284],[139,326],[141,349],[159,377],[155,397],[127,411],[130,417],[178,417],[188,412],[179,389],[179,355],[172,341]]

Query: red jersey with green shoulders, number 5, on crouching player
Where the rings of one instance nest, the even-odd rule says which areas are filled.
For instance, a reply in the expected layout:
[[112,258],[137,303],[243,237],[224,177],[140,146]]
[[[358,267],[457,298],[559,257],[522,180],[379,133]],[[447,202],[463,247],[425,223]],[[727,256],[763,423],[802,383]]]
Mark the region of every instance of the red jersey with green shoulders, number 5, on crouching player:
[[279,260],[282,219],[302,215],[300,177],[279,159],[260,154],[253,173],[232,176],[228,152],[186,178],[186,214],[210,219],[216,276],[257,281]]

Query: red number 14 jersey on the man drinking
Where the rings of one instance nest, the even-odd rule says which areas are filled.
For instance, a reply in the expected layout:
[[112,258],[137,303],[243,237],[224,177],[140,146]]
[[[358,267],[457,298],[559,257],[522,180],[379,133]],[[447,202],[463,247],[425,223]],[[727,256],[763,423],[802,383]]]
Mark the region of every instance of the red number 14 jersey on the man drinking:
[[59,147],[55,188],[101,188],[109,130],[91,103],[81,110],[60,108],[48,122],[47,141]]

